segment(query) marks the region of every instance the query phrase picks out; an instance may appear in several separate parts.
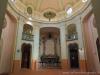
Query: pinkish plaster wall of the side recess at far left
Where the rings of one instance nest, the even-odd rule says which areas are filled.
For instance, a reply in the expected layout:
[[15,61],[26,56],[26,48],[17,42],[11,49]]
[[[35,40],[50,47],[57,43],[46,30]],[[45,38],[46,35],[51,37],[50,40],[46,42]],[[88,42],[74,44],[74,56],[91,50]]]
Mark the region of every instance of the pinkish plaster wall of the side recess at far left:
[[11,71],[13,54],[15,50],[16,37],[16,20],[12,15],[5,15],[7,25],[2,31],[2,51],[0,60],[0,73],[8,73]]

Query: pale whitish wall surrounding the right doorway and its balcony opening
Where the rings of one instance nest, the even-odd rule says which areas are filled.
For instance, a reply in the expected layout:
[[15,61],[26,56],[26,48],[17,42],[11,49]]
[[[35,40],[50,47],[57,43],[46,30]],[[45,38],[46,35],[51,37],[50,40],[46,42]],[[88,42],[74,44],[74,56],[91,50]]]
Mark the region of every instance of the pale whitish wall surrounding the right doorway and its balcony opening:
[[[66,22],[66,35],[67,35],[67,27],[71,24],[75,24],[76,26],[76,31],[77,31],[77,34],[78,34],[78,40],[76,41],[66,41],[67,43],[67,48],[68,48],[68,45],[70,43],[77,43],[78,46],[79,46],[79,57],[80,57],[80,60],[84,60],[85,59],[85,54],[84,54],[84,45],[83,45],[83,33],[82,33],[82,23],[81,23],[81,15],[78,15],[76,17],[74,17],[72,20],[69,20]],[[82,50],[80,50],[82,49]],[[68,51],[67,51],[68,53]]]

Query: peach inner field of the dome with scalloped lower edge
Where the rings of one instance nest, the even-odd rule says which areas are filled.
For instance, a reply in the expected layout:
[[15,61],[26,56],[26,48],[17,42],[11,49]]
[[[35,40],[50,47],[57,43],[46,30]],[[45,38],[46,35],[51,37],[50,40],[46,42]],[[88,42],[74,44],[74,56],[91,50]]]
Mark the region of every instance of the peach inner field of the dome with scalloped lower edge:
[[64,10],[68,5],[74,6],[80,0],[20,0],[24,5],[31,5],[34,10],[43,12],[53,9],[57,12]]

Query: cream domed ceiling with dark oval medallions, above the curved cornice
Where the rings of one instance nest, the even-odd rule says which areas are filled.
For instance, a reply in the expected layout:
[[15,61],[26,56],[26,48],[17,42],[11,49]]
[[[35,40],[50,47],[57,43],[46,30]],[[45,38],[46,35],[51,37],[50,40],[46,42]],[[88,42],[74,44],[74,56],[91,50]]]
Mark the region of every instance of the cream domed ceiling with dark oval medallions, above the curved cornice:
[[47,20],[48,17],[50,19],[51,16],[54,21],[67,16],[65,10],[68,8],[72,8],[75,12],[85,4],[82,0],[12,0],[10,3],[25,15],[31,14],[31,16],[42,20]]

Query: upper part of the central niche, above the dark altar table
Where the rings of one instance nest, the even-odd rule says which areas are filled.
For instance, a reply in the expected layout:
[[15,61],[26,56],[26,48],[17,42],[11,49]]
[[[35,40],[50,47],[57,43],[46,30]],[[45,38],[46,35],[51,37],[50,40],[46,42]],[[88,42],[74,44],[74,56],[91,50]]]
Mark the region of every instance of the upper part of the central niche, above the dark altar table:
[[40,55],[60,55],[60,29],[44,27],[40,29]]

